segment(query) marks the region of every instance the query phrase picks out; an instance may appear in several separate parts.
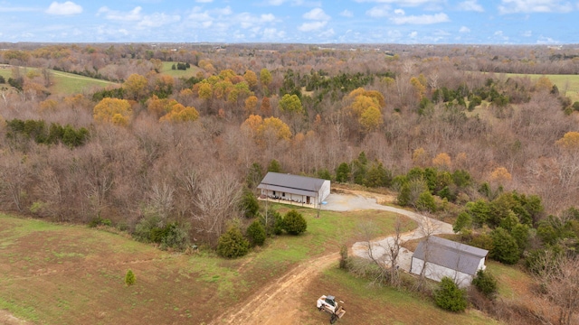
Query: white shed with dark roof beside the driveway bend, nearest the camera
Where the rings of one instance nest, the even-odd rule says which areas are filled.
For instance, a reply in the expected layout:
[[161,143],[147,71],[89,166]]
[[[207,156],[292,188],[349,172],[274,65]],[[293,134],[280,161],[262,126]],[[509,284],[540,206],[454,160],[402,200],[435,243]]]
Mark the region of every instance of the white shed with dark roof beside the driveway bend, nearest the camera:
[[470,285],[479,270],[487,267],[487,255],[489,251],[486,249],[431,236],[416,247],[410,273],[421,274],[426,264],[424,276],[427,278],[441,281],[444,276],[448,276],[463,288]]

